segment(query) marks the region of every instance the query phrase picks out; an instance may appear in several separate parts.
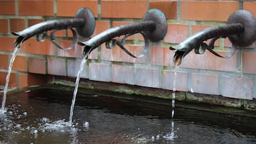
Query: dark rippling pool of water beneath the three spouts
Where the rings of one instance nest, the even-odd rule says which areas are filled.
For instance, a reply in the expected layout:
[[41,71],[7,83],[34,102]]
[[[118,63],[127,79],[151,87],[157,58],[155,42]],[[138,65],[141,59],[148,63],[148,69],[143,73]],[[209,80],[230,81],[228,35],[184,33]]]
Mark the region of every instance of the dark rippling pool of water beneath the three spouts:
[[[256,118],[175,108],[143,101],[37,89],[9,94],[1,143],[256,143]],[[170,101],[171,103],[171,101]]]

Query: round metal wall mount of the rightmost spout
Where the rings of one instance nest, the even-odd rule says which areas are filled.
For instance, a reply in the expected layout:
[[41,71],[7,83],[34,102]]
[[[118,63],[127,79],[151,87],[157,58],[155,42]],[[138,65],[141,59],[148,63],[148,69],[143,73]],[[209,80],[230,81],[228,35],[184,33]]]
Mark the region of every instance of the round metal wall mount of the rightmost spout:
[[239,47],[246,47],[251,45],[256,40],[256,20],[255,16],[249,11],[238,10],[230,15],[228,24],[242,23],[245,30],[240,35],[230,35],[230,41]]

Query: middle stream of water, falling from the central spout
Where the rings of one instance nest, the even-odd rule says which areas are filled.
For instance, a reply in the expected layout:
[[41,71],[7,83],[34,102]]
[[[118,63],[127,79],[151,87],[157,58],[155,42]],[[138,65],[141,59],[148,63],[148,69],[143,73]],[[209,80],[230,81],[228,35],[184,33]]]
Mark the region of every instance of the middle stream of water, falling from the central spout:
[[73,111],[74,111],[74,107],[75,107],[75,97],[78,93],[78,84],[79,84],[79,80],[80,80],[80,74],[81,74],[82,70],[84,69],[86,60],[87,60],[87,58],[82,57],[82,62],[80,64],[80,70],[78,71],[77,78],[75,79],[75,89],[73,92],[72,104],[70,106],[70,117],[69,117],[70,126],[72,126]]

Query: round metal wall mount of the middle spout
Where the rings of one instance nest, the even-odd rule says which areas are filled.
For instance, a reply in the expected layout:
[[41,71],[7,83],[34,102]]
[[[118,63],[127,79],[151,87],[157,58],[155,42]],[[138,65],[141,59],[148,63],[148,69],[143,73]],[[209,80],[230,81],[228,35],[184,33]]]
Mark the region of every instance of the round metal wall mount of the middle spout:
[[159,41],[164,39],[167,32],[167,21],[163,12],[158,9],[150,9],[144,14],[143,21],[154,21],[156,23],[154,31],[144,32],[149,40]]

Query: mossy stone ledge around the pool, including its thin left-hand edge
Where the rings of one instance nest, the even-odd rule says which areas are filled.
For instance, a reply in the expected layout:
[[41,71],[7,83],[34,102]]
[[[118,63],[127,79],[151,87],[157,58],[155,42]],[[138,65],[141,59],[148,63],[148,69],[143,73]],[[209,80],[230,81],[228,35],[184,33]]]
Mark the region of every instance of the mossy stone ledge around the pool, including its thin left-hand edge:
[[[8,94],[33,89],[55,89],[64,92],[73,92],[75,87],[75,79],[67,77],[53,77],[53,82],[46,85],[9,89]],[[4,90],[1,90],[0,95],[3,93]],[[172,91],[166,89],[139,87],[129,84],[96,82],[88,79],[81,79],[78,93],[93,94],[95,96],[110,96],[117,99],[128,99],[132,101],[143,101],[171,106]],[[187,109],[198,109],[201,111],[212,111],[217,113],[256,118],[255,104],[255,99],[231,99],[218,95],[176,92],[175,105],[177,107]]]

